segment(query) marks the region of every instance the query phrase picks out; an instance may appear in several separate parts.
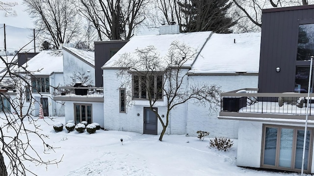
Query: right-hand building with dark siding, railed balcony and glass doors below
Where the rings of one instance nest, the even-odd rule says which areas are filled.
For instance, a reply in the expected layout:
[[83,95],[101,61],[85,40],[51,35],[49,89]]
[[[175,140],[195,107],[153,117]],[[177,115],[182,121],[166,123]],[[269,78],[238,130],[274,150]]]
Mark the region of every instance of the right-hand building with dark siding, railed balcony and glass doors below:
[[262,10],[259,88],[221,94],[218,118],[239,121],[238,166],[301,172],[306,134],[303,169],[314,173],[313,14],[314,5]]

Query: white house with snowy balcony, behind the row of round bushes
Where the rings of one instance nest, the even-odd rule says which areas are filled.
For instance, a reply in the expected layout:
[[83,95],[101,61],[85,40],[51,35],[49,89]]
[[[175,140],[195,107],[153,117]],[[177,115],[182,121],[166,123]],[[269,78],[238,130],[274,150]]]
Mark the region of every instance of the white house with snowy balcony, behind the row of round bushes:
[[[126,42],[95,42],[95,53],[63,47],[63,85],[67,87],[59,87],[55,92],[54,100],[64,102],[66,122],[69,120],[74,120],[76,123],[87,121],[104,127],[104,94],[103,87],[100,87],[103,85],[103,76],[97,74],[97,69],[101,70],[101,66]],[[80,80],[79,77],[84,77],[82,75],[88,81]],[[89,86],[74,87],[76,81]]]

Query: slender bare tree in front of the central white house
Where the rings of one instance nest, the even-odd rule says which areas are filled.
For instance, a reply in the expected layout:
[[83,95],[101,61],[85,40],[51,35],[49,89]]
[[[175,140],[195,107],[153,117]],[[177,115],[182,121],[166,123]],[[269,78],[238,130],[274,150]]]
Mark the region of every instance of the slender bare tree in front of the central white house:
[[[120,69],[117,76],[122,81],[121,88],[128,89],[126,95],[128,101],[140,98],[149,102],[150,109],[157,115],[162,125],[159,141],[162,141],[166,132],[171,110],[177,106],[193,99],[194,103],[208,107],[209,111],[217,111],[220,87],[204,82],[186,84],[186,70],[185,72],[183,70],[196,57],[196,50],[174,41],[166,57],[160,57],[154,46],[137,49],[135,53],[136,57],[125,53],[115,62],[118,68],[128,68]],[[160,100],[166,101],[165,122],[159,113],[154,111],[157,101]]]

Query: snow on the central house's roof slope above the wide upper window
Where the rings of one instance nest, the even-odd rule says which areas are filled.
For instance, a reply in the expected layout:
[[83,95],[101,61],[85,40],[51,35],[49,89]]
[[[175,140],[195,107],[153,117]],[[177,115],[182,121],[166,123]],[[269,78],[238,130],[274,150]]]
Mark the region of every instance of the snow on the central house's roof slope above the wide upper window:
[[[111,59],[108,60],[103,67],[114,67],[114,62],[118,60],[123,53],[131,53],[131,56],[135,57],[136,55],[134,52],[136,49],[144,49],[148,46],[154,46],[160,53],[160,57],[164,57],[168,52],[171,43],[176,40],[199,51],[205,44],[210,33],[211,31],[134,36],[124,47],[122,47],[114,56],[112,56]],[[186,66],[190,66],[193,61],[194,59],[187,62]]]

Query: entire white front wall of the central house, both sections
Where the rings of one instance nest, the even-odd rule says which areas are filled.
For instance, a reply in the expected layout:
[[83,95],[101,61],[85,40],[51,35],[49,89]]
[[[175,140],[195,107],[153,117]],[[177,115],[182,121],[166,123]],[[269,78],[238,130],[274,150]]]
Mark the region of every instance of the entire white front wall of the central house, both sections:
[[[185,71],[184,73],[186,73]],[[148,101],[133,101],[133,105],[128,107],[127,113],[120,113],[119,86],[121,85],[121,81],[117,80],[116,70],[105,69],[103,72],[105,128],[143,133],[143,107],[149,107]],[[258,86],[257,75],[186,76],[183,88],[186,88],[187,78],[189,85],[197,82],[218,84],[221,86],[223,92],[241,88],[257,88]],[[155,106],[158,108],[159,115],[166,115],[165,103],[165,101],[161,101]],[[218,109],[220,109],[220,104]],[[137,116],[137,113],[140,115]],[[191,100],[188,103],[177,106],[171,111],[166,133],[187,133],[190,136],[197,136],[196,131],[204,130],[210,132],[211,137],[226,136],[237,139],[238,121],[218,120],[217,116],[218,113],[214,112],[210,115],[209,107],[194,104],[194,100]],[[159,134],[162,130],[159,121],[157,126]]]

